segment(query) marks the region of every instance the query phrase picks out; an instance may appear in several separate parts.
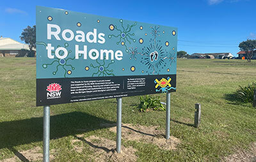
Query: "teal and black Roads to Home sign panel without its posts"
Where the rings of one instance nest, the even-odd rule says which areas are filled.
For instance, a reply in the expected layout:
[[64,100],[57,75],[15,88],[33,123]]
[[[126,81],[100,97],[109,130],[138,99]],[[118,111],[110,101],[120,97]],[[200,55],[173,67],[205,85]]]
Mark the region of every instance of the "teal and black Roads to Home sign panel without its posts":
[[173,92],[177,28],[36,7],[36,106]]

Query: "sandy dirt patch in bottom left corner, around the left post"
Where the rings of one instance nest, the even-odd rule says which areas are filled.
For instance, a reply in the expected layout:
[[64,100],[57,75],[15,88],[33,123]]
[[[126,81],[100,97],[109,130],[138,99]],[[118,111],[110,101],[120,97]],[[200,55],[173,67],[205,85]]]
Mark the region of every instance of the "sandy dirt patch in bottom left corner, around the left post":
[[[43,154],[42,149],[40,147],[35,147],[33,149],[27,151],[15,152],[15,156],[13,158],[3,159],[0,162],[13,162],[13,161],[42,161]],[[50,161],[54,159],[54,150],[51,150]],[[21,160],[22,159],[22,160]]]

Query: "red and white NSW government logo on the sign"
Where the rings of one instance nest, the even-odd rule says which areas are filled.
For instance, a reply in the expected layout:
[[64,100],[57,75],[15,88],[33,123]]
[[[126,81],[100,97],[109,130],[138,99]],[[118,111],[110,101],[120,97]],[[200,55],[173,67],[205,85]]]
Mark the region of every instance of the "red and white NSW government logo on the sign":
[[61,98],[61,85],[60,84],[49,84],[47,86],[46,93],[47,99]]

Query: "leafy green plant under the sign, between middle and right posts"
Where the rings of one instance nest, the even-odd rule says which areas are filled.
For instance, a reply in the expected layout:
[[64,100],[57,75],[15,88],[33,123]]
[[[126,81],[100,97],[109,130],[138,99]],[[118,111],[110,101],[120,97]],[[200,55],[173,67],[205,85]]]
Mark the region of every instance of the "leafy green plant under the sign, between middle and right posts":
[[165,111],[160,98],[154,98],[152,96],[140,96],[140,105],[138,107],[141,112],[147,112],[149,110],[162,110]]

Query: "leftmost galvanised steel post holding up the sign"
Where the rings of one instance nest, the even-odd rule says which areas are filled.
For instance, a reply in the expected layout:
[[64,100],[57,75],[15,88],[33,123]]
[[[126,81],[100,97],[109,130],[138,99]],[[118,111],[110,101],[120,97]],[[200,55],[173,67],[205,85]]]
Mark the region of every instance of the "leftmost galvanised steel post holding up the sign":
[[50,106],[44,107],[44,162],[50,161]]

